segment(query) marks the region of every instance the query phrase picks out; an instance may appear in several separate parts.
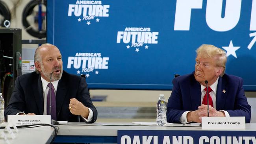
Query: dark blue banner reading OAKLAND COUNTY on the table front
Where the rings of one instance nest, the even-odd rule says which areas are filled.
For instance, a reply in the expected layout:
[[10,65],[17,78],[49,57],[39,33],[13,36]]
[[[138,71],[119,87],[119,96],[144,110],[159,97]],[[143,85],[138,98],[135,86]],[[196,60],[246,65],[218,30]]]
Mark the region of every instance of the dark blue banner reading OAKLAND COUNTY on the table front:
[[256,131],[118,130],[118,144],[256,144]]

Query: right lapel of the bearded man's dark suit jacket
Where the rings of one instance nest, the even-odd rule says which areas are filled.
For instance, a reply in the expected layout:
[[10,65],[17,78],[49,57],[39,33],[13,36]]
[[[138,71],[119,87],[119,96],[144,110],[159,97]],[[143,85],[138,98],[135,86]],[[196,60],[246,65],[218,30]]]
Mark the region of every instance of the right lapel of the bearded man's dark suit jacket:
[[56,92],[56,114],[57,114],[57,118],[58,118],[58,114],[59,111],[63,105],[64,100],[66,99],[67,96],[67,89],[69,89],[67,87],[67,77],[65,72],[63,71],[63,75],[61,77],[61,79],[59,80],[58,83],[58,88],[57,88],[57,92]]

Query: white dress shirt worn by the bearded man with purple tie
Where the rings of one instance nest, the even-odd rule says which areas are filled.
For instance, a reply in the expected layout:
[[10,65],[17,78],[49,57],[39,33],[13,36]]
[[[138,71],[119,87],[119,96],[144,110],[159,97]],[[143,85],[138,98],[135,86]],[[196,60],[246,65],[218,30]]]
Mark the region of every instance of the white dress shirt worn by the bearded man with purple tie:
[[[48,85],[48,81],[46,81],[42,76],[41,76],[41,80],[42,80],[42,86],[43,86],[43,95],[44,95],[44,113],[43,115],[47,115],[47,94],[48,94],[48,91],[49,91],[49,87],[47,87]],[[58,83],[59,83],[59,80],[58,81],[52,81],[52,85],[54,86],[54,92],[55,92],[55,95],[56,95],[56,91],[58,89]],[[88,115],[88,118],[84,118],[82,116],[82,118],[86,121],[86,122],[90,122],[93,118],[93,111],[88,107],[89,109],[89,115]],[[17,115],[19,115],[20,113],[17,113]],[[24,113],[25,114],[25,113]]]

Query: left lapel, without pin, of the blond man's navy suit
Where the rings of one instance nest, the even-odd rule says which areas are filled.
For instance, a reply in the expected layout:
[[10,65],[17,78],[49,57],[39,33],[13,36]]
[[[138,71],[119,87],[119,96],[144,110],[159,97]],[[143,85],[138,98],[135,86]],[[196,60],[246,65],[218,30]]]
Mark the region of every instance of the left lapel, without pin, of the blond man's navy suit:
[[190,87],[190,98],[191,98],[191,107],[195,111],[198,109],[198,106],[201,105],[201,85],[193,77]]

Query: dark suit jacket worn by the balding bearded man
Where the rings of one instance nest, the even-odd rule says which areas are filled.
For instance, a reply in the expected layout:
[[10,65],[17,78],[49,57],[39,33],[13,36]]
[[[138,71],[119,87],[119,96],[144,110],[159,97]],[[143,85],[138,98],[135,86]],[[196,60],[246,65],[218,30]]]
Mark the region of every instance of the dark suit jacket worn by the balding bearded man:
[[[73,115],[69,111],[70,98],[76,98],[83,105],[89,107],[93,111],[93,119],[90,123],[96,121],[98,113],[91,102],[85,78],[68,74],[63,70],[56,92],[56,113],[58,121],[78,121],[78,116]],[[43,108],[43,87],[40,74],[32,72],[19,76],[15,81],[15,88],[9,100],[9,105],[5,110],[6,120],[7,115],[14,115],[20,112],[43,115]],[[83,118],[80,119],[83,120]]]

